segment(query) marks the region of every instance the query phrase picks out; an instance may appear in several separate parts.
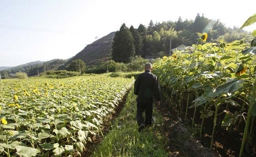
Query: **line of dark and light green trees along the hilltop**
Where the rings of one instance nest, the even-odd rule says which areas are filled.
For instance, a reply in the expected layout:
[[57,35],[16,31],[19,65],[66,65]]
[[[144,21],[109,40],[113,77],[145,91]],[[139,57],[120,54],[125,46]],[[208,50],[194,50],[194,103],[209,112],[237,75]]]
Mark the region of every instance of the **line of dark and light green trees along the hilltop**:
[[237,27],[228,28],[219,20],[211,20],[199,13],[195,20],[163,21],[155,24],[150,20],[146,27],[140,24],[138,28],[128,28],[122,24],[115,33],[112,46],[112,59],[115,62],[130,62],[130,58],[139,55],[145,57],[160,52],[168,53],[171,48],[184,44],[191,46],[197,42],[197,32],[208,33],[208,42],[224,39],[227,42],[251,38],[249,32]]

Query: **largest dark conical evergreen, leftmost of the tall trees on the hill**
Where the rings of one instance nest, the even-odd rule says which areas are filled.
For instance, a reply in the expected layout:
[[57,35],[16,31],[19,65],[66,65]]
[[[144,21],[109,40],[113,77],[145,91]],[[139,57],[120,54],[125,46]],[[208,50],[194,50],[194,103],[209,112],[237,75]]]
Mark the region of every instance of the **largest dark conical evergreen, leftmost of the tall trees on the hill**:
[[132,33],[125,24],[115,33],[112,45],[112,58],[115,62],[130,62],[130,57],[135,54],[134,39]]

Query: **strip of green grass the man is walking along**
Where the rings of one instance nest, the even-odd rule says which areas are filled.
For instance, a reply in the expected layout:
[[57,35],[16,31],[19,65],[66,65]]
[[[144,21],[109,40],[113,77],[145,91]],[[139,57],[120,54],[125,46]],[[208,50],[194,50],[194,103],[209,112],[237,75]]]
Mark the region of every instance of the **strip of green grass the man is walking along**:
[[162,134],[162,116],[153,111],[153,126],[139,133],[135,98],[132,89],[123,110],[112,123],[111,131],[96,148],[93,157],[168,157],[164,150],[167,139]]

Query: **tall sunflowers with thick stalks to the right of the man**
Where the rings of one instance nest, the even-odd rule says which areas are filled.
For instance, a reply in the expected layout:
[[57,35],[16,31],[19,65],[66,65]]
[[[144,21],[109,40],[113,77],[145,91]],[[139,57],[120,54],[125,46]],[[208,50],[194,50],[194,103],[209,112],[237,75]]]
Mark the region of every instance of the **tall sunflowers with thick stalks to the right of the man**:
[[218,131],[240,132],[241,157],[245,144],[255,140],[256,38],[250,44],[245,39],[206,43],[207,34],[198,35],[193,51],[176,51],[171,57],[163,57],[155,63],[153,73],[159,77],[173,107],[183,112],[185,119],[188,110],[193,110],[193,126],[195,118],[200,117],[200,137],[204,121],[212,119],[212,124],[207,124],[212,125],[210,148],[216,126],[220,126]]

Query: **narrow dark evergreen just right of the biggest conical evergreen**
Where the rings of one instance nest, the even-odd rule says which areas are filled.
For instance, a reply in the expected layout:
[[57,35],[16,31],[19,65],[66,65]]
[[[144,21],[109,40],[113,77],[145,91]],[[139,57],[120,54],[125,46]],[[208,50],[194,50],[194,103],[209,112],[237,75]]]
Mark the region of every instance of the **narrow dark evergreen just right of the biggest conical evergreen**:
[[142,55],[142,38],[139,34],[138,30],[134,28],[134,26],[130,27],[130,31],[132,33],[132,37],[134,38],[134,46],[135,46],[135,55]]

